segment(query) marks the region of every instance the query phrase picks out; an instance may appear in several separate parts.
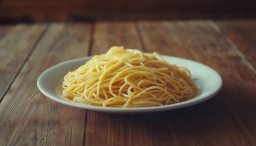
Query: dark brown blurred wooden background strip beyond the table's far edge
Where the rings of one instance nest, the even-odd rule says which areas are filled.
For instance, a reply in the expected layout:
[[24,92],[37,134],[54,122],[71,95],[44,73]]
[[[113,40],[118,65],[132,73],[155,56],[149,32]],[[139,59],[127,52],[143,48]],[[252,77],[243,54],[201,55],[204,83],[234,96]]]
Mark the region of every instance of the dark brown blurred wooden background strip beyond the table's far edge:
[[252,0],[2,0],[0,23],[256,18]]

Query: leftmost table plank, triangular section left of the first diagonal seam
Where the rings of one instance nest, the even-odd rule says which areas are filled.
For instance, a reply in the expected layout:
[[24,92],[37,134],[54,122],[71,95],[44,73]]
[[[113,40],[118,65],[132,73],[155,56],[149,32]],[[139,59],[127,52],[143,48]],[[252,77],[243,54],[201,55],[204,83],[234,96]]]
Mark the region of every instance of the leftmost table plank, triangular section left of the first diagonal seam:
[[0,27],[0,101],[43,32],[44,25]]

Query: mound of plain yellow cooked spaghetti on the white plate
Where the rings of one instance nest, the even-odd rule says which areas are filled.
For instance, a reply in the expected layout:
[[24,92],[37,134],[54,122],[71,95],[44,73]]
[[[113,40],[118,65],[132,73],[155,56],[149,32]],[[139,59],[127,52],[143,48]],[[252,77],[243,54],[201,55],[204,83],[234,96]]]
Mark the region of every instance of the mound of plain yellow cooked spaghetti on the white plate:
[[197,87],[187,68],[141,50],[112,47],[65,75],[63,96],[95,106],[162,106],[189,100]]

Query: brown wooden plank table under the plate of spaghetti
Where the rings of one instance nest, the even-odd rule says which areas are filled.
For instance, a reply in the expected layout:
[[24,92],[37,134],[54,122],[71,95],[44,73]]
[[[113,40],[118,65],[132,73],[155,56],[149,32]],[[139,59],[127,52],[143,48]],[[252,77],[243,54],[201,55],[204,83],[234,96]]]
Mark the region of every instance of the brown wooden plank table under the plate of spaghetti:
[[[0,145],[256,145],[256,21],[0,26]],[[154,114],[97,113],[37,88],[50,66],[111,46],[188,58],[221,74],[207,102]]]

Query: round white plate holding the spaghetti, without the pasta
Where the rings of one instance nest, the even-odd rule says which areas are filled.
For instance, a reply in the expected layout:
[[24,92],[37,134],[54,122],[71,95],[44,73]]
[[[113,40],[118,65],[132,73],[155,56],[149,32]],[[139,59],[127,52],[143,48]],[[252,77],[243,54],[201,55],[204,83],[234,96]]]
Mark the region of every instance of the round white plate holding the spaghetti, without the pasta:
[[197,103],[204,102],[215,96],[222,86],[221,76],[212,68],[205,66],[204,64],[197,63],[183,58],[163,56],[170,64],[177,64],[190,69],[192,78],[199,88],[199,94],[193,99],[185,102],[175,103],[165,106],[143,107],[143,108],[112,108],[84,105],[82,103],[76,103],[68,101],[58,96],[55,89],[62,85],[63,77],[68,71],[74,71],[79,68],[91,57],[77,58],[74,60],[65,61],[60,64],[56,64],[51,68],[44,71],[37,80],[38,89],[44,94],[56,102],[63,103],[65,105],[74,106],[77,108],[90,109],[93,111],[99,111],[103,113],[115,113],[115,114],[135,114],[135,113],[155,113],[159,111],[167,111],[171,109],[184,108],[187,106],[195,105]]

